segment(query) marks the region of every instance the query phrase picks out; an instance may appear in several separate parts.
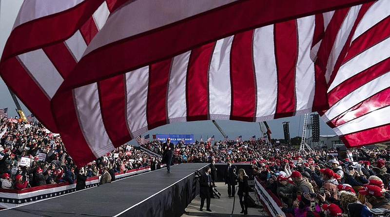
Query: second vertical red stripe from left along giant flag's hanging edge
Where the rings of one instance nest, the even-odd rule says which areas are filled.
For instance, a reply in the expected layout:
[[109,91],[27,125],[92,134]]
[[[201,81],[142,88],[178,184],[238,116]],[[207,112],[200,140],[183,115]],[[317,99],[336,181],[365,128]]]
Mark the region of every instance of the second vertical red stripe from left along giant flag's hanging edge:
[[[114,144],[131,140],[126,124],[124,76],[98,82],[100,109],[107,134]],[[117,147],[117,145],[114,145]]]

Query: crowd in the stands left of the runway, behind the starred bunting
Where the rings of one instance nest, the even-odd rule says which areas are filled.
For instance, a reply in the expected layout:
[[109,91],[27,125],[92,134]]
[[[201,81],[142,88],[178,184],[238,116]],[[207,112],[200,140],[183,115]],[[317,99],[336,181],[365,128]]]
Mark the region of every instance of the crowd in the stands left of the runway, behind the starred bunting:
[[160,158],[133,145],[123,144],[79,168],[67,154],[60,136],[48,131],[38,121],[26,124],[12,121],[12,118],[1,118],[0,138],[0,181],[3,189],[22,190],[61,182],[73,184],[75,180],[78,180],[78,185],[80,182],[85,185],[84,179],[103,175],[105,168],[110,174],[107,182],[110,182],[115,180],[115,173],[146,166],[152,166],[152,169],[160,167]]

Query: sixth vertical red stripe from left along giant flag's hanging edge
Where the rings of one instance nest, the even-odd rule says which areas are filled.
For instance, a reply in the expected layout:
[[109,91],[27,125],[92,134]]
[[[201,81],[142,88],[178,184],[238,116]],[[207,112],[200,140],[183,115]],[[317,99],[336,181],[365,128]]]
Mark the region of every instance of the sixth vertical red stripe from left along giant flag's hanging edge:
[[296,107],[295,65],[298,56],[296,20],[274,24],[274,37],[278,81],[275,118],[283,118],[292,116]]

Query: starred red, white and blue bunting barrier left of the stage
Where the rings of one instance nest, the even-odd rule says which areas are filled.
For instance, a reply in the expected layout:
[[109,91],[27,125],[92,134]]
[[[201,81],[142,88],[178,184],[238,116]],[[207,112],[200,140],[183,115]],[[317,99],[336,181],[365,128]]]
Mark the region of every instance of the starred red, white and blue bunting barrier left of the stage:
[[[162,165],[161,167],[163,167],[164,165]],[[138,169],[128,170],[126,172],[116,173],[115,179],[119,180],[122,178],[132,177],[137,174],[149,172],[150,170],[150,166],[147,166]],[[23,190],[0,189],[0,209],[17,207],[21,204],[27,204],[75,192],[76,183],[77,181],[75,181],[74,184],[70,185],[68,182],[62,182],[59,184],[48,184],[43,186],[25,188]],[[86,188],[91,188],[97,186],[98,183],[99,177],[91,177],[87,178],[85,185]]]

